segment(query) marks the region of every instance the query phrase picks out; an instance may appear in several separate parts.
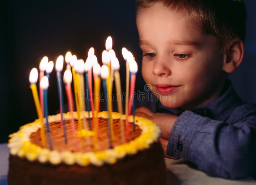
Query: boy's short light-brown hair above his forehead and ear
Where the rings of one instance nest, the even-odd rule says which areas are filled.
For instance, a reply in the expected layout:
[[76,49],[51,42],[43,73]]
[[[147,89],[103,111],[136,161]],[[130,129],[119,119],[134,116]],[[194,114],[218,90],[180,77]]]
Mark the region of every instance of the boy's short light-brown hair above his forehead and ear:
[[156,3],[198,21],[204,33],[217,37],[222,53],[228,52],[234,38],[244,41],[246,11],[241,0],[136,0],[136,12]]

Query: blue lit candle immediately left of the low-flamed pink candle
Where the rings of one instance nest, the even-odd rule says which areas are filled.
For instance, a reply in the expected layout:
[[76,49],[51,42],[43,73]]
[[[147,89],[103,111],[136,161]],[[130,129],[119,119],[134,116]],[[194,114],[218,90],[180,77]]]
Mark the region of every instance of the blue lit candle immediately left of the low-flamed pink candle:
[[63,119],[63,112],[64,112],[64,101],[63,101],[63,89],[62,89],[62,79],[61,79],[61,71],[63,69],[63,62],[64,58],[62,55],[60,55],[57,58],[55,69],[56,69],[56,76],[57,76],[57,84],[58,84],[58,95],[59,95],[59,103],[60,103],[60,125],[63,127],[63,134],[65,143],[68,143],[67,138],[67,131],[66,131],[66,123]]

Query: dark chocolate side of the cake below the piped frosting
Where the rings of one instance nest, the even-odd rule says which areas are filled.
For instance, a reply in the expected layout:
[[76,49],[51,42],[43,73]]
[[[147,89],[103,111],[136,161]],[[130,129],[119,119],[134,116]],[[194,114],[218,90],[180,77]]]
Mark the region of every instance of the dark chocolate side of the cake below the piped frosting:
[[9,185],[164,185],[166,170],[159,142],[135,155],[127,155],[116,164],[101,167],[66,164],[41,164],[10,155]]

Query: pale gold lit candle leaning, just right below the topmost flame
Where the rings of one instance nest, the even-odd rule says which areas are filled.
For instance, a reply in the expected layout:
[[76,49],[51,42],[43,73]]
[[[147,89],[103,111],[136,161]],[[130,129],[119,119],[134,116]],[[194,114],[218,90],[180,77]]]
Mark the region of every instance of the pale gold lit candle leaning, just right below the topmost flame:
[[[122,90],[121,90],[121,80],[120,80],[120,64],[118,59],[115,57],[111,60],[111,69],[114,71],[115,84],[116,84],[116,96],[117,96],[117,109],[120,114],[123,115],[123,104],[122,104]],[[121,140],[122,143],[125,143],[124,140],[124,121],[120,120],[120,130],[121,130]]]

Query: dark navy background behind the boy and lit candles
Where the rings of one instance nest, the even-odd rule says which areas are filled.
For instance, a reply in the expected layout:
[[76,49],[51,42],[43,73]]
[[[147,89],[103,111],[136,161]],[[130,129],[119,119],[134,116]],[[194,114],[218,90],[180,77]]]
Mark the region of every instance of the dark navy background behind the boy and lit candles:
[[[248,15],[245,58],[230,79],[244,100],[256,103],[256,1],[244,2]],[[125,73],[122,47],[131,50],[140,63],[134,7],[134,0],[1,1],[0,143],[7,142],[8,135],[21,125],[36,119],[28,77],[31,68],[38,68],[45,55],[55,63],[60,54],[65,56],[70,50],[78,58],[85,59],[89,48],[94,47],[101,63],[101,52],[106,38],[111,35],[122,79]],[[138,73],[137,82],[141,79]],[[48,96],[49,114],[55,114],[59,107],[56,83],[53,70]],[[137,88],[140,87],[143,84],[137,83]]]

